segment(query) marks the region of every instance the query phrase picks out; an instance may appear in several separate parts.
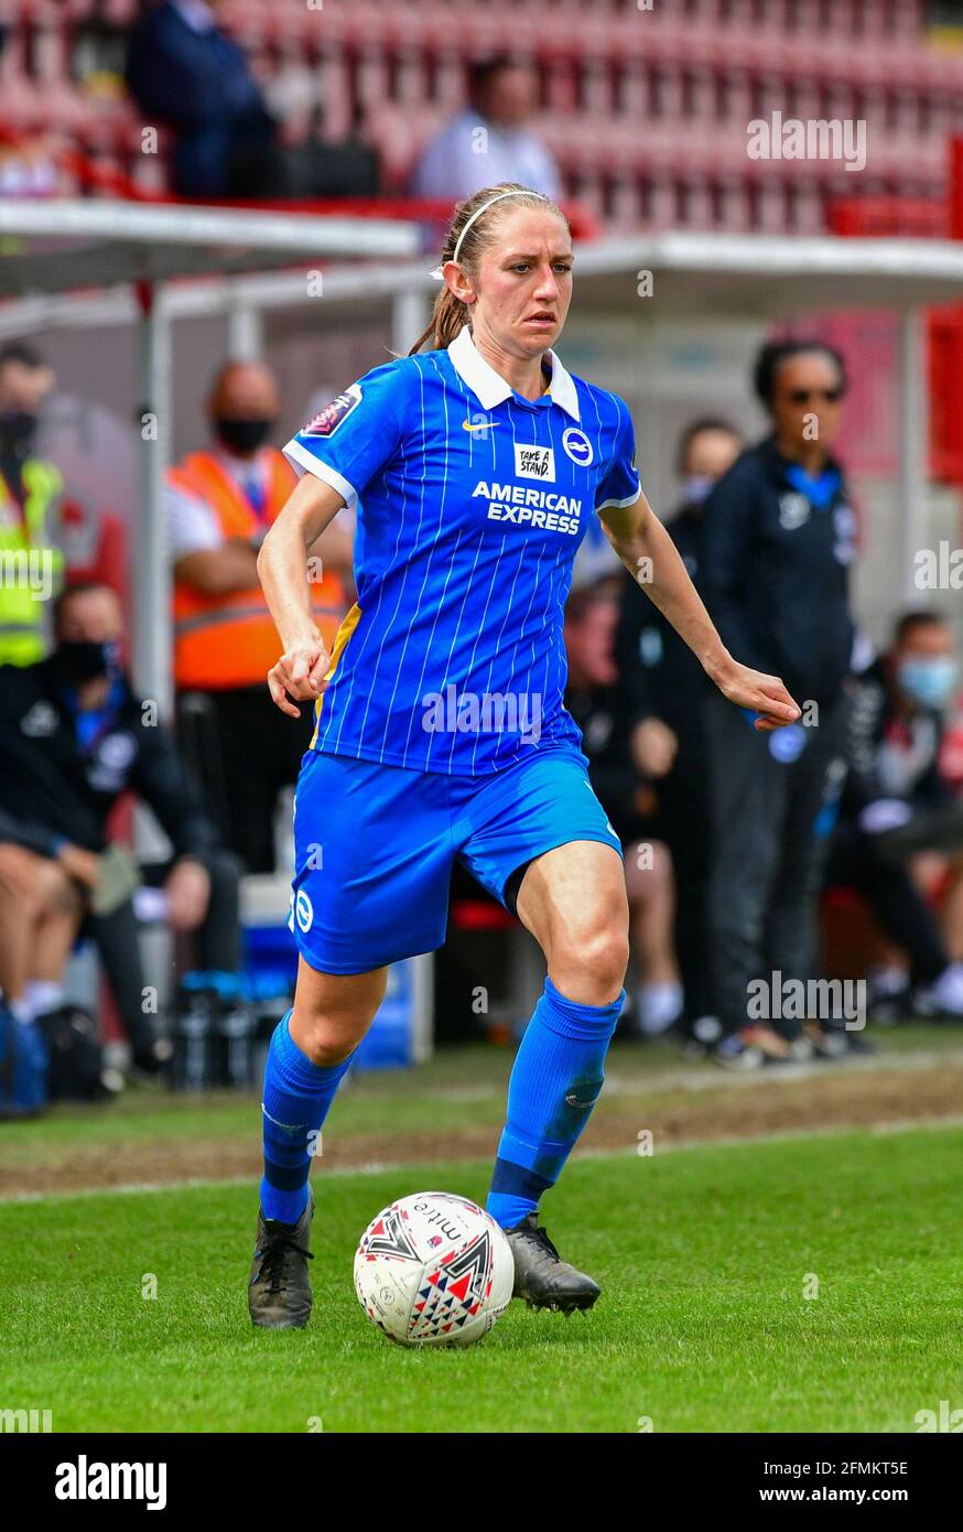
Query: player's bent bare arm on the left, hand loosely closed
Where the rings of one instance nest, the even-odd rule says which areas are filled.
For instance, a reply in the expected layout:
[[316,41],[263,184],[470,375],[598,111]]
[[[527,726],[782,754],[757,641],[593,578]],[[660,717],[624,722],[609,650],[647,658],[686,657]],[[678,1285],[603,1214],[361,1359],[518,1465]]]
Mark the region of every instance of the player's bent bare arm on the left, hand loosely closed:
[[280,634],[283,654],[268,673],[268,691],[282,712],[300,717],[291,697],[314,702],[325,689],[328,651],[311,611],[308,548],[344,506],[344,496],[325,480],[305,473],[265,536],[257,573]]

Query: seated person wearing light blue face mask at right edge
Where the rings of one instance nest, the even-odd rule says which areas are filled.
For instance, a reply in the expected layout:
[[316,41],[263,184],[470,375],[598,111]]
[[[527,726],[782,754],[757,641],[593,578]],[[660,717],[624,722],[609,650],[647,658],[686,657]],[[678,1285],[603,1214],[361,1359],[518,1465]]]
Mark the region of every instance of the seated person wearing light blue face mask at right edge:
[[[952,961],[912,876],[919,853],[963,847],[963,804],[939,769],[958,676],[949,625],[908,611],[890,653],[853,679],[850,775],[827,881],[857,889],[908,954],[916,1010],[963,1017],[963,962]],[[871,974],[870,1003],[900,1008],[906,990],[905,971],[888,965]]]

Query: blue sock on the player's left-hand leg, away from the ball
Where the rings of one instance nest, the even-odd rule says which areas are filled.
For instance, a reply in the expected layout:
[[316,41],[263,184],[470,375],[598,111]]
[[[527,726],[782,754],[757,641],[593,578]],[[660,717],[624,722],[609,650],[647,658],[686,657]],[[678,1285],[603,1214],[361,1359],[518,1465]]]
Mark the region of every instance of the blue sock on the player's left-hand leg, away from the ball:
[[260,1207],[265,1218],[295,1224],[308,1206],[308,1172],[317,1152],[314,1135],[328,1117],[334,1092],[354,1054],[329,1069],[311,1063],[291,1037],[289,1020],[291,1011],[282,1016],[268,1048],[262,1105],[265,1174]]

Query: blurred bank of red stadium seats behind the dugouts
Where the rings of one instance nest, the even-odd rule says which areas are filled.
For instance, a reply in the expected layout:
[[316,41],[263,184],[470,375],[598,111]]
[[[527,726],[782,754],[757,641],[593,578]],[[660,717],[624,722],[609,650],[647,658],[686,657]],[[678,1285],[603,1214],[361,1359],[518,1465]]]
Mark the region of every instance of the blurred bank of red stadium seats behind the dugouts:
[[[145,167],[130,147],[133,118],[112,138],[109,107],[70,78],[73,29],[93,15],[130,25],[136,12],[136,0],[23,6],[0,69],[0,123],[69,132],[129,162],[138,184],[156,184],[162,162]],[[721,227],[747,227],[747,187],[769,175],[767,227],[779,216],[787,228],[819,227],[839,167],[795,162],[787,195],[785,167],[746,162],[746,123],[759,110],[868,118],[874,179],[860,190],[946,187],[963,57],[928,46],[916,0],[678,0],[651,12],[628,0],[557,0],[550,14],[548,26],[542,0],[352,0],[317,11],[305,0],[227,0],[220,12],[263,69],[286,132],[302,135],[320,106],[325,133],[343,138],[360,112],[389,187],[462,104],[468,63],[505,47],[537,63],[539,130],[568,187],[619,224],[645,202],[660,224],[701,227],[712,211]]]

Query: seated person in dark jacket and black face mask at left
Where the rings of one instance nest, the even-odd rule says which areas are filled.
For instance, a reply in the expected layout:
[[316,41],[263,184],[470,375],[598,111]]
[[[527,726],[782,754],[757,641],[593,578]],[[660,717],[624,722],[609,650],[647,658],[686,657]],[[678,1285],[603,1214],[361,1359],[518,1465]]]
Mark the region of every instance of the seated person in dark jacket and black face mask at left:
[[[144,1013],[132,899],[138,875],[126,878],[122,855],[109,850],[107,817],[127,791],[153,810],[173,858],[141,875],[162,884],[170,925],[196,933],[199,967],[225,974],[240,967],[237,864],[220,850],[152,705],[130,691],[119,660],[121,630],[115,593],[77,585],[57,604],[51,657],[0,668],[0,807],[8,832],[15,824],[18,844],[46,858],[34,901],[47,889],[51,867],[66,873],[83,898],[84,928],[96,941],[135,1063],[156,1071],[167,1049],[155,1016]],[[5,936],[0,945],[6,942]]]

